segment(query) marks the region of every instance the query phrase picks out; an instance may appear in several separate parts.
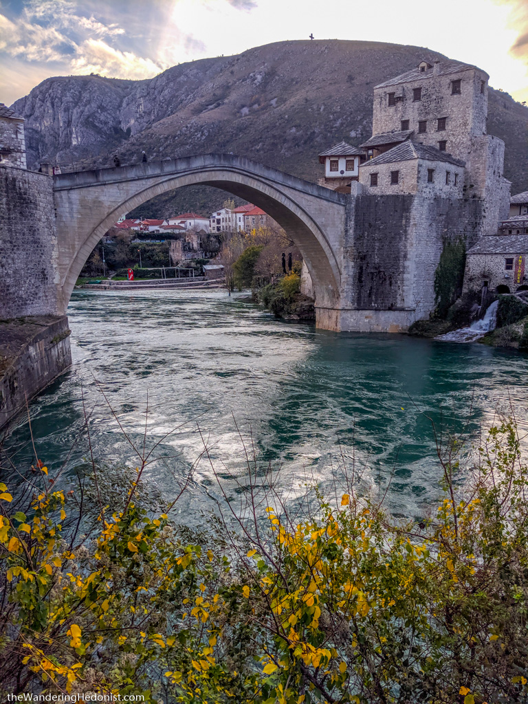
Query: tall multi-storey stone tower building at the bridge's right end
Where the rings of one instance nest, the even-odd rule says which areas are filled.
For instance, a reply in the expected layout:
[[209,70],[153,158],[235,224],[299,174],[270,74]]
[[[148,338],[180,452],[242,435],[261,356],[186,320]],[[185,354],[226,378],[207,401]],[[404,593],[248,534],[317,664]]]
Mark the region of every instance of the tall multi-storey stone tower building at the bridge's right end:
[[487,92],[483,70],[449,60],[421,61],[375,87],[372,137],[350,182],[348,329],[398,332],[427,318],[446,244],[472,248],[508,218],[504,144],[486,134]]

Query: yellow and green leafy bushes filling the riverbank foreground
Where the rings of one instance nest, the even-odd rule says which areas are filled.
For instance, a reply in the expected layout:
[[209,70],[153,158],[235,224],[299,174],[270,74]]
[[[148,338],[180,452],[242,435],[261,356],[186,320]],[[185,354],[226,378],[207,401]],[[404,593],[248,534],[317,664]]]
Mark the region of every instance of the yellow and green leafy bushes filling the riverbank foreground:
[[[356,494],[355,467],[335,496],[308,487],[292,508],[244,450],[247,503],[215,473],[222,501],[203,530],[171,519],[178,498],[151,496],[142,448],[113,481],[92,461],[59,489],[35,459],[0,486],[4,696],[527,700],[528,467],[513,420],[472,452],[461,437],[439,446],[444,498],[408,522]],[[205,440],[203,457],[214,470]]]

